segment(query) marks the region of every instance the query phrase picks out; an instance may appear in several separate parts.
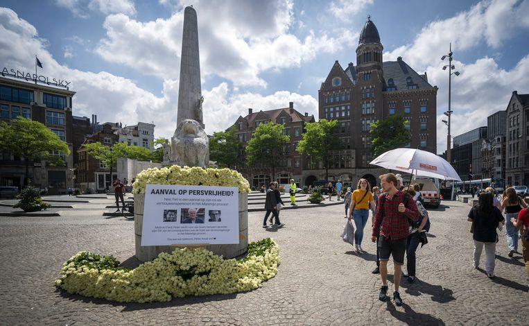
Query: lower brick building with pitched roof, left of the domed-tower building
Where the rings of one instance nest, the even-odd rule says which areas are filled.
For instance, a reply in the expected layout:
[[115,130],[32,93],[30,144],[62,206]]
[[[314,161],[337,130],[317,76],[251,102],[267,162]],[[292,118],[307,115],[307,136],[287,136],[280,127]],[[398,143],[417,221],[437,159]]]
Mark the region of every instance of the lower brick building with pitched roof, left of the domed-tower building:
[[[268,166],[247,166],[245,164],[246,153],[244,148],[260,123],[281,123],[284,126],[284,135],[290,136],[290,142],[281,148],[280,158],[275,169],[276,175],[272,178],[272,170]],[[302,139],[304,123],[314,122],[314,116],[301,114],[294,109],[294,103],[290,102],[288,108],[253,112],[248,109],[246,117],[240,116],[232,127],[235,128],[236,136],[243,144],[239,152],[239,164],[235,167],[250,182],[250,187],[258,188],[271,180],[277,180],[281,184],[289,183],[290,178],[296,182],[302,182],[302,169],[304,166],[304,155],[297,153],[295,148],[297,142]],[[231,127],[230,127],[231,128]]]

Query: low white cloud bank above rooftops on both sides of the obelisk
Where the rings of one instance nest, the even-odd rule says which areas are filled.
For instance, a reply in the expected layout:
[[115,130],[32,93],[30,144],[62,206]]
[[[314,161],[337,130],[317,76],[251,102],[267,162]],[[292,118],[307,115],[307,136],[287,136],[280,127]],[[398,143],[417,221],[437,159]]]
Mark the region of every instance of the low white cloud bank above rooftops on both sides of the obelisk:
[[[0,61],[13,69],[33,69],[33,53],[44,64],[42,74],[51,78],[71,81],[76,95],[73,98],[73,114],[90,117],[98,115],[98,121],[121,122],[123,125],[138,121],[153,121],[155,137],[171,137],[176,127],[178,81],[166,78],[161,94],[155,95],[138,87],[132,80],[109,74],[79,71],[60,65],[46,50],[46,41],[37,37],[31,24],[17,17],[7,8],[0,8]],[[28,63],[29,62],[29,63]],[[204,119],[206,131],[228,128],[248,108],[270,110],[288,107],[288,102],[300,112],[316,114],[318,101],[310,95],[276,92],[269,96],[245,93],[233,94],[227,83],[213,89],[204,89]]]

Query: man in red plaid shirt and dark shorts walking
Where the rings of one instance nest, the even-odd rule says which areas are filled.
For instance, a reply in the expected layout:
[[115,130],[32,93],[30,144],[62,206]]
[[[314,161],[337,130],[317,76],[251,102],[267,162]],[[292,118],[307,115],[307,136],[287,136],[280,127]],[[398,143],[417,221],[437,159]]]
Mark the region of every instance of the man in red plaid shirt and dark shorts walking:
[[[379,299],[384,301],[388,292],[388,260],[393,256],[394,265],[394,286],[393,300],[397,306],[402,305],[399,294],[401,282],[401,270],[406,254],[406,238],[409,235],[408,218],[413,221],[419,219],[417,205],[411,196],[404,200],[404,192],[397,189],[397,178],[393,173],[380,176],[380,185],[384,191],[379,197],[379,205],[376,205],[376,213],[373,218],[373,232],[371,241],[376,241],[376,234],[380,232],[379,256],[380,256],[380,276],[382,286]],[[404,202],[406,201],[406,205]]]

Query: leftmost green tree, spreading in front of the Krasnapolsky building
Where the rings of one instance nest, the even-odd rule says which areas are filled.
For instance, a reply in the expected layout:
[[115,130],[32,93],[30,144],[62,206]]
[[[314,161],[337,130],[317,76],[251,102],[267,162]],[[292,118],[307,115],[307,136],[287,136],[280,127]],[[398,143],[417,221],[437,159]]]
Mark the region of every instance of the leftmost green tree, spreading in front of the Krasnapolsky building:
[[69,155],[68,145],[60,140],[55,132],[44,124],[17,117],[10,123],[0,122],[0,150],[14,156],[24,158],[26,175],[24,185],[29,185],[29,164],[33,161],[45,160],[49,165],[64,164],[58,155],[51,155],[53,151]]

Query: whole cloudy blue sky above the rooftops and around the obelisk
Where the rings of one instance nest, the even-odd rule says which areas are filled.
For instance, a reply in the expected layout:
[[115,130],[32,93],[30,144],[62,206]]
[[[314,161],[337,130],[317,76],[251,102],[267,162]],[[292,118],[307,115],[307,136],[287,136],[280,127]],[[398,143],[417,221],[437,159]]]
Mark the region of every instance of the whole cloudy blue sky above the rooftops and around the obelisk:
[[[529,92],[529,0],[503,1],[133,1],[1,0],[2,67],[34,69],[72,81],[73,114],[98,121],[154,121],[156,137],[175,128],[183,8],[199,24],[202,93],[208,133],[248,108],[289,101],[317,114],[318,89],[334,60],[355,62],[367,15],[384,60],[401,55],[428,73],[437,95],[437,146],[447,105],[440,57],[453,42],[453,135],[485,125],[512,90]],[[477,124],[476,124],[477,123]]]

